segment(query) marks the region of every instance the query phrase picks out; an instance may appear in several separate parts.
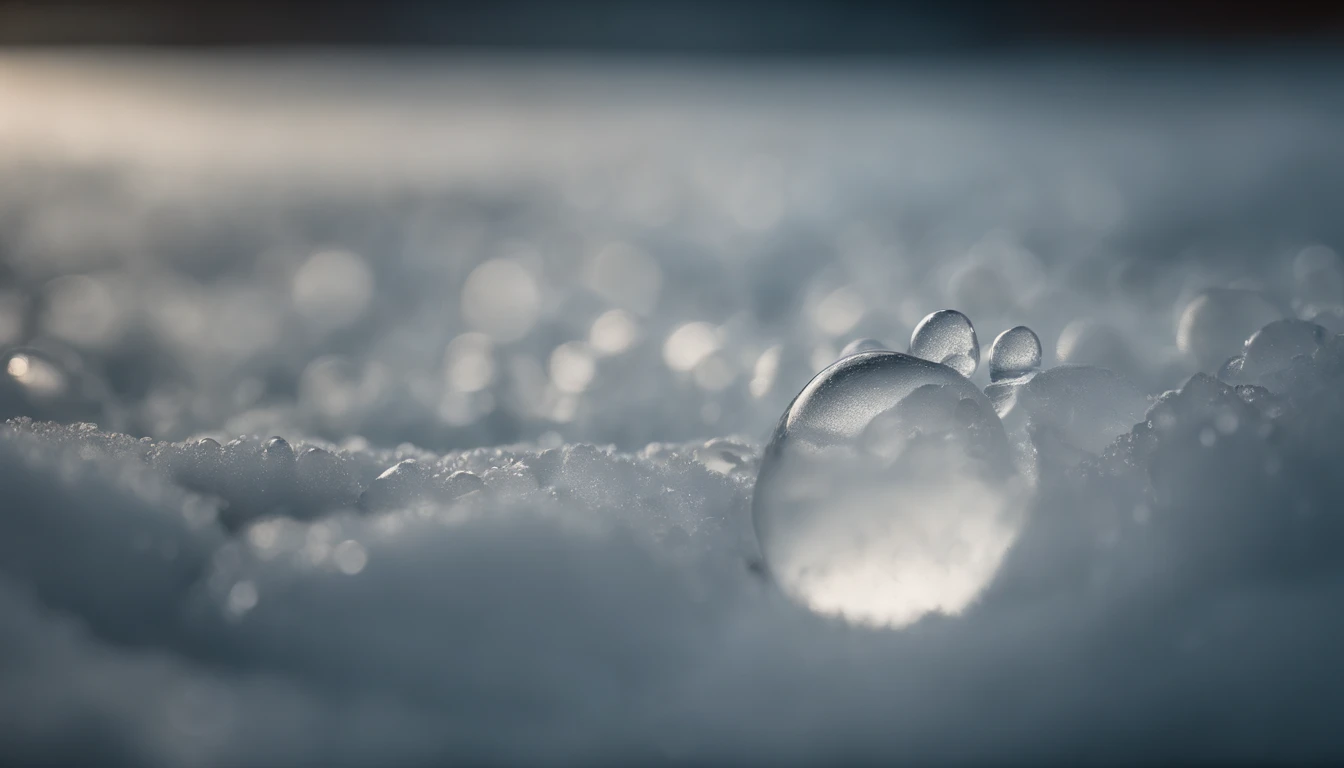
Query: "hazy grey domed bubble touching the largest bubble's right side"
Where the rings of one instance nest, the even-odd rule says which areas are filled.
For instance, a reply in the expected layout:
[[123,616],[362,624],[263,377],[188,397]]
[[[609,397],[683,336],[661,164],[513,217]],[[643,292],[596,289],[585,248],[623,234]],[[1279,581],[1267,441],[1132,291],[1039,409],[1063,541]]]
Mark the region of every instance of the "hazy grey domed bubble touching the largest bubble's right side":
[[1017,391],[1038,443],[1099,455],[1148,412],[1148,397],[1125,377],[1095,366],[1042,371]]

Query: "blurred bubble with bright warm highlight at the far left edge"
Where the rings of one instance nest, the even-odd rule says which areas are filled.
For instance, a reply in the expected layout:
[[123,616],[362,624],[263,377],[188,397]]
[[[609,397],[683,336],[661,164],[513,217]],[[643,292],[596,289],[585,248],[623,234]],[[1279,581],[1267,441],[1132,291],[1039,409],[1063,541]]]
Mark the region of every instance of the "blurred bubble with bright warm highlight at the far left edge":
[[27,416],[124,428],[106,382],[78,354],[56,346],[11,347],[0,360],[0,420]]

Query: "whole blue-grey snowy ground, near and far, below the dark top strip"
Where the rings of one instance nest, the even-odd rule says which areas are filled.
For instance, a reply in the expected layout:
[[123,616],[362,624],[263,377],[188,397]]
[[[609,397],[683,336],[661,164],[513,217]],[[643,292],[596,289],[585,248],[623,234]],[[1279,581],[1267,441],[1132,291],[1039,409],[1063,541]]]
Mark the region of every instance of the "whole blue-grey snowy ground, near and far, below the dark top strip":
[[[0,56],[0,756],[1340,760],[1339,69]],[[813,613],[761,448],[945,307],[1157,405],[964,612]]]

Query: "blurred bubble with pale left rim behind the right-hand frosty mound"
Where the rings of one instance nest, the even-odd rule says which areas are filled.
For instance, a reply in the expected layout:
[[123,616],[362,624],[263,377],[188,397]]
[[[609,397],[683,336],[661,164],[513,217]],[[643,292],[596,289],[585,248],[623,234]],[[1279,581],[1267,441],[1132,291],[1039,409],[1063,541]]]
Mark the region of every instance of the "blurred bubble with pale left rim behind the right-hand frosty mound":
[[1210,288],[1191,300],[1176,325],[1176,346],[1202,371],[1216,370],[1242,350],[1247,336],[1278,320],[1282,312],[1262,295],[1238,288]]

